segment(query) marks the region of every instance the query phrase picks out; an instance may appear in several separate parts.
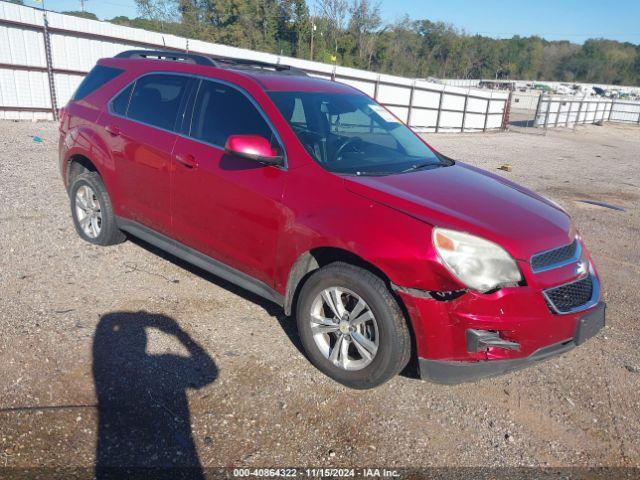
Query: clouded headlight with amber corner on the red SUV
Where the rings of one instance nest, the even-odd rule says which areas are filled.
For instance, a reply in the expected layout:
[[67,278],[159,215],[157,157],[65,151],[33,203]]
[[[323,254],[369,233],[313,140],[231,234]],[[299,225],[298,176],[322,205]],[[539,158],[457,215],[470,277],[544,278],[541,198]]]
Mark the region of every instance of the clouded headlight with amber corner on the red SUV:
[[522,280],[520,269],[511,255],[483,238],[434,228],[433,246],[447,269],[473,290],[488,292]]

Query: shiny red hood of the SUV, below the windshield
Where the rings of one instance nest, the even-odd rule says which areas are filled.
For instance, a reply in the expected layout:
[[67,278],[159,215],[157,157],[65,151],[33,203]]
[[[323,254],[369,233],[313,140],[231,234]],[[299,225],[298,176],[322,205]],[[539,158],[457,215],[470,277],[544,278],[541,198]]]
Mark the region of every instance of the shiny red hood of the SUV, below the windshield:
[[434,226],[479,235],[514,258],[569,243],[571,219],[544,197],[498,175],[456,163],[381,177],[344,177],[347,190]]

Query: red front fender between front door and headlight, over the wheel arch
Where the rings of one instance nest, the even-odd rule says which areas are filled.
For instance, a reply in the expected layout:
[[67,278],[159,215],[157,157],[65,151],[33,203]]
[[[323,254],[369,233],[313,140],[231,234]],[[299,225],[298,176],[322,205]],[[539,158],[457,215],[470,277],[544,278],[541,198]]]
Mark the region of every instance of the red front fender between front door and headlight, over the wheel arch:
[[300,272],[314,266],[310,253],[323,248],[354,255],[401,287],[464,288],[437,259],[431,225],[348,191],[317,165],[289,174],[283,206],[290,218],[278,243],[274,281],[285,297],[293,295]]

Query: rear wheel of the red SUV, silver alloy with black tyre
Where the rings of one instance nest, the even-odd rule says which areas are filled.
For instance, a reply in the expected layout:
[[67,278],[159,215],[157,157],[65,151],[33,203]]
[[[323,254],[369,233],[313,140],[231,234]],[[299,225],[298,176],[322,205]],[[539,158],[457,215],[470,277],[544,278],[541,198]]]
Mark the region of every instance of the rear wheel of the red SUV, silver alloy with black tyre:
[[113,205],[100,175],[81,173],[69,189],[71,216],[76,232],[94,245],[116,245],[126,240],[113,213]]

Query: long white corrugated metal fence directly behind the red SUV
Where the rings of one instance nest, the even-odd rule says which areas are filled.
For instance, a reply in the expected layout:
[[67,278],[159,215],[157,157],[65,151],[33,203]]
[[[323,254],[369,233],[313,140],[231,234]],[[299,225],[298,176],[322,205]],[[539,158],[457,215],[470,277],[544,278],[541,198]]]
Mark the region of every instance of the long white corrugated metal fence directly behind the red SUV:
[[[99,58],[124,50],[173,48],[283,63],[333,78],[385,104],[418,131],[499,129],[508,94],[334,66],[47,12],[57,108]],[[52,118],[43,12],[0,2],[0,118]],[[465,85],[466,86],[466,85]],[[15,110],[11,110],[15,107]],[[29,109],[33,109],[30,111]]]

